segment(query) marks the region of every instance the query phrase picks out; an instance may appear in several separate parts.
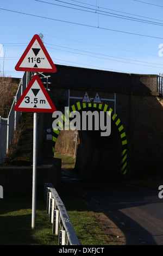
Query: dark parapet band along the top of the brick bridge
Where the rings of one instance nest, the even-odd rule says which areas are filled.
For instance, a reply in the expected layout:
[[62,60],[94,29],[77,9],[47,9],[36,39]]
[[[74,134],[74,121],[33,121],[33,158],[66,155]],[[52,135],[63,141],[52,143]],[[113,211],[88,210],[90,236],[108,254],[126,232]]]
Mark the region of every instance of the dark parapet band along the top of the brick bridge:
[[114,93],[158,93],[158,75],[125,74],[94,69],[56,65],[57,72],[49,74],[51,87],[93,90]]

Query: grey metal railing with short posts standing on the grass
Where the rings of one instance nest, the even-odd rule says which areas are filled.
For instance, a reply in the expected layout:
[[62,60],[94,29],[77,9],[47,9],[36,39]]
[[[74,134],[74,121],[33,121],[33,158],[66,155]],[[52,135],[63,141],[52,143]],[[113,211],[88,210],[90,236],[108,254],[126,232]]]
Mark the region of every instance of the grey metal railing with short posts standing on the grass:
[[[52,233],[59,236],[59,245],[80,245],[64,203],[51,183],[45,184],[45,199]],[[60,227],[59,227],[60,225]]]

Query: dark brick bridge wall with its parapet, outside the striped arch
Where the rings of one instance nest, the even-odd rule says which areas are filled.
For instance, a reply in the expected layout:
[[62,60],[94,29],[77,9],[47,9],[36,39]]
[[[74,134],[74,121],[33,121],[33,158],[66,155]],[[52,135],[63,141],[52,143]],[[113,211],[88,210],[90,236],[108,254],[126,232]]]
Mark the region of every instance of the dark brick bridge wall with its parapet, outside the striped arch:
[[[128,141],[128,174],[155,175],[162,172],[163,101],[158,90],[158,76],[120,74],[115,72],[57,66],[51,78],[49,95],[57,110],[64,111],[70,96],[90,97],[96,92],[106,99],[114,99],[116,114],[122,121]],[[52,74],[51,74],[52,75]],[[70,106],[81,101],[70,99]],[[112,109],[114,103],[105,101]],[[117,129],[118,133],[118,129]]]

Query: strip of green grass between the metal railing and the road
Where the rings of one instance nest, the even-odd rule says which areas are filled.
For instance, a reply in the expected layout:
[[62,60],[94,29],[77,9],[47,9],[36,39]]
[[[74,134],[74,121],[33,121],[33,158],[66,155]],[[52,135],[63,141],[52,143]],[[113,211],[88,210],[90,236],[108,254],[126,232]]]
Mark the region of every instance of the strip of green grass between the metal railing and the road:
[[[71,210],[71,205],[73,205],[74,210]],[[92,209],[78,199],[66,200],[65,206],[80,245],[114,244],[113,237],[106,233],[101,222],[98,220],[99,215],[97,212],[92,211]]]

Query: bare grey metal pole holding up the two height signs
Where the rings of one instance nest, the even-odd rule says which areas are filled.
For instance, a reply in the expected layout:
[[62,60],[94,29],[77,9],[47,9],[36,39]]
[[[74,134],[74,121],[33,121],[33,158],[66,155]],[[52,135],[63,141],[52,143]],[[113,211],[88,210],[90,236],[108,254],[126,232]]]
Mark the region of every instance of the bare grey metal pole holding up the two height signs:
[[[35,73],[36,75],[37,73]],[[37,177],[37,112],[33,114],[33,184],[32,184],[32,229],[36,218],[36,177]]]

